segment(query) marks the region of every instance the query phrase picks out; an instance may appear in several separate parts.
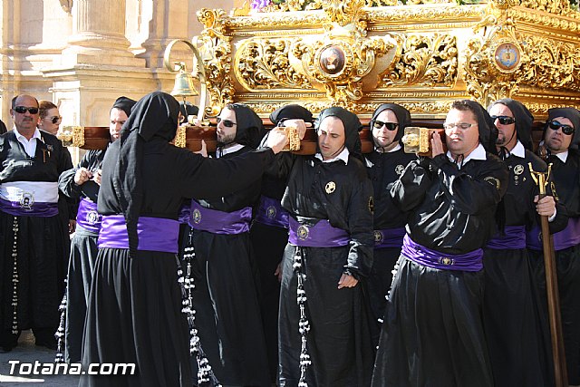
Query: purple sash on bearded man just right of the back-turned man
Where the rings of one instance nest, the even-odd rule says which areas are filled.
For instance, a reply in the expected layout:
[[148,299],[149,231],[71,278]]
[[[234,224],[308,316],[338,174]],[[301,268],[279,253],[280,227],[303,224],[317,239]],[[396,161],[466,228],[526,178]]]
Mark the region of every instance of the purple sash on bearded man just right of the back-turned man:
[[224,212],[217,209],[203,208],[191,200],[189,226],[213,234],[242,234],[250,229],[252,208],[245,207],[237,211]]

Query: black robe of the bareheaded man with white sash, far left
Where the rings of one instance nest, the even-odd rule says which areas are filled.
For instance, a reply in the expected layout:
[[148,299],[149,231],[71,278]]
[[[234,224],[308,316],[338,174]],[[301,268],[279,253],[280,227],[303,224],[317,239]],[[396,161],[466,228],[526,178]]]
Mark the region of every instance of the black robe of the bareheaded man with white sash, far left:
[[[60,173],[73,167],[60,140],[46,132],[42,132],[42,137],[37,140],[36,152],[31,158],[16,140],[14,131],[0,135],[0,183],[38,181],[56,185]],[[17,222],[16,232],[14,222]],[[0,255],[3,257],[0,265],[0,346],[14,347],[19,332],[29,328],[33,328],[36,343],[55,345],[53,334],[59,324],[58,306],[64,292],[67,244],[68,227],[64,229],[60,215],[14,217],[0,210]],[[17,249],[15,260],[14,245]],[[11,333],[14,275],[18,279],[15,307],[18,334]]]

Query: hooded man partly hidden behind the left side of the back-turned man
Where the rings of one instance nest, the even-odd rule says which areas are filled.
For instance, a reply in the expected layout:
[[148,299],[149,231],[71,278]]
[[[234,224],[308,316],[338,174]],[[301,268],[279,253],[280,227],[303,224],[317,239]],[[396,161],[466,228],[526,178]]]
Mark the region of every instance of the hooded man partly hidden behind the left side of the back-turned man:
[[[119,97],[109,112],[111,140],[117,140],[121,126],[137,103],[127,97]],[[59,178],[59,188],[69,198],[80,199],[77,227],[71,241],[69,258],[64,327],[59,327],[64,338],[66,363],[81,361],[82,330],[91,290],[92,269],[97,259],[97,239],[101,229],[101,216],[97,213],[97,197],[101,184],[102,160],[107,150],[89,150],[76,168],[64,171]],[[63,331],[62,331],[63,330]],[[61,348],[61,351],[63,348]],[[62,358],[58,356],[58,360]],[[62,356],[62,354],[61,354]]]

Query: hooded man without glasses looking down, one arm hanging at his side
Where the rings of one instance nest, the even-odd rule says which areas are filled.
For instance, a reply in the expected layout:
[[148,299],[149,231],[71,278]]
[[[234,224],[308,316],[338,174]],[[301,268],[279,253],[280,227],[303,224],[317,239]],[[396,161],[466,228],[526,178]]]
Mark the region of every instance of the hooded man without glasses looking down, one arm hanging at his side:
[[333,107],[316,121],[314,156],[279,156],[290,234],[282,263],[278,385],[362,387],[373,344],[362,282],[372,266],[372,185],[361,121]]

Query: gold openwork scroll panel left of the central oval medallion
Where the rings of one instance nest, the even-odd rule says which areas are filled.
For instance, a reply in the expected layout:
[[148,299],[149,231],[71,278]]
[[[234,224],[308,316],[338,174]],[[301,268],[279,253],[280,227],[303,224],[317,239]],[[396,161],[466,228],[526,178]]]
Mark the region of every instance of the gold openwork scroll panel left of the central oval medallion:
[[235,69],[238,81],[249,91],[264,89],[312,89],[306,77],[290,65],[292,39],[244,41],[237,49]]

